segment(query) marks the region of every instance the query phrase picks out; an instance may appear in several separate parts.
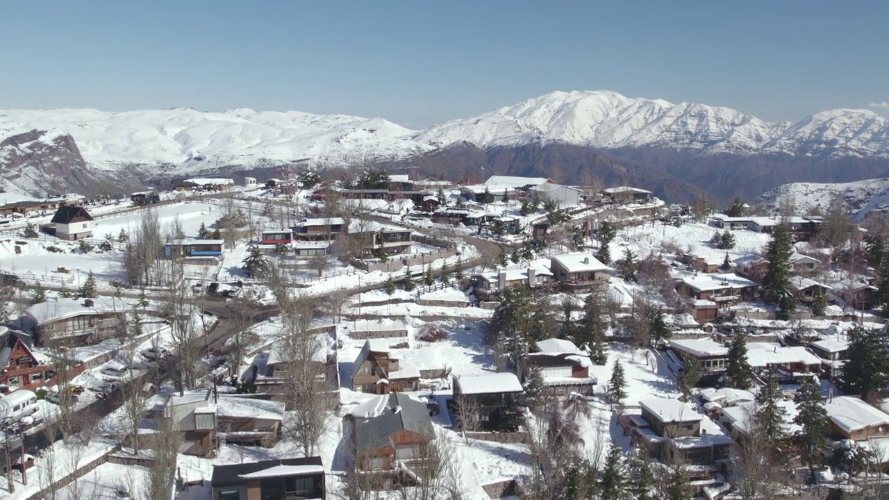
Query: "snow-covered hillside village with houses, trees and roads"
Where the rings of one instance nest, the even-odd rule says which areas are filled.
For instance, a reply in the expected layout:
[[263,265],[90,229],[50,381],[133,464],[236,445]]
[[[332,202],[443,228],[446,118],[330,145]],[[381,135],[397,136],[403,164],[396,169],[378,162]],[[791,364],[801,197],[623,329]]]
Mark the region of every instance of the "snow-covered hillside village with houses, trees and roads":
[[884,235],[415,177],[0,206],[2,497],[880,497]]

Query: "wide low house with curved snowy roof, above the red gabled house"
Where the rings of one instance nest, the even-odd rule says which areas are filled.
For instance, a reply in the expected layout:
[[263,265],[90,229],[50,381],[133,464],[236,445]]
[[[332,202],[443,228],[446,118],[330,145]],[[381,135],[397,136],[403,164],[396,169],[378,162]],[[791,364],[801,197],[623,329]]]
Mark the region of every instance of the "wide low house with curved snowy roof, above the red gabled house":
[[124,308],[106,297],[63,299],[34,304],[25,310],[26,324],[37,345],[64,341],[70,346],[97,343],[126,332]]

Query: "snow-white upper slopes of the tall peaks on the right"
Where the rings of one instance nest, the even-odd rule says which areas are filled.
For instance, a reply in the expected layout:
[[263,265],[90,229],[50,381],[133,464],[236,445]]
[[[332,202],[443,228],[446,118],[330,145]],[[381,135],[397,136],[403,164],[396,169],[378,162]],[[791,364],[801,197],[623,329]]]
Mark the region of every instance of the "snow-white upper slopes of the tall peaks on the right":
[[770,123],[734,109],[629,98],[620,93],[554,92],[477,117],[434,125],[415,141],[479,147],[562,141],[600,149],[663,147],[709,153],[889,155],[889,121],[873,111],[836,109]]

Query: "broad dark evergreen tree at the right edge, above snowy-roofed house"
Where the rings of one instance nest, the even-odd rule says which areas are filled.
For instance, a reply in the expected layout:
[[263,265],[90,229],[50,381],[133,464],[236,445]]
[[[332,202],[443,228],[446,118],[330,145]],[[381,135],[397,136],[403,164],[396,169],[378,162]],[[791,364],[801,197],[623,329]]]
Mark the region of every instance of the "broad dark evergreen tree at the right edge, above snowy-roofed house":
[[882,391],[889,382],[889,358],[886,337],[881,330],[856,325],[848,332],[849,348],[845,354],[839,386],[844,392],[861,394]]

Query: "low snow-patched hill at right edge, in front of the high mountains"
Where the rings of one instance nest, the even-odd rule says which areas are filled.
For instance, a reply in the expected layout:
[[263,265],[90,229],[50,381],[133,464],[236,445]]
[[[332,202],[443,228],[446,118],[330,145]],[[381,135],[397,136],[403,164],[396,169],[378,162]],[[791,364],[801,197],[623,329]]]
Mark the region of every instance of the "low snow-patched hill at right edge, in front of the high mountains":
[[827,212],[836,199],[842,199],[852,212],[853,222],[861,222],[868,214],[889,208],[889,179],[837,184],[793,182],[763,193],[757,202],[774,210],[789,201],[797,212],[808,214],[813,210]]

